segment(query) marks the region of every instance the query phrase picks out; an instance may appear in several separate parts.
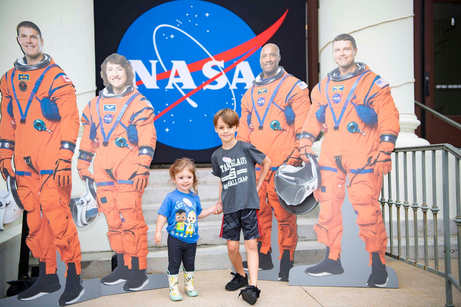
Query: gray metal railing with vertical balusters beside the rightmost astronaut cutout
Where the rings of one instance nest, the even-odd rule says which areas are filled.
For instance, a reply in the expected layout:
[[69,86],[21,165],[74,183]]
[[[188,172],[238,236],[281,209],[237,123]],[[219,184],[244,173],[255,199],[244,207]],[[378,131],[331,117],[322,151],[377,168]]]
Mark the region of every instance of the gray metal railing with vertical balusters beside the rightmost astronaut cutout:
[[[452,286],[461,292],[461,284],[459,280],[461,277],[461,151],[449,144],[438,144],[397,148],[394,150],[392,155],[393,170],[385,176],[387,177],[387,180],[383,180],[381,199],[379,200],[382,206],[384,225],[386,225],[386,211],[389,216],[387,227],[389,227],[390,249],[388,249],[386,255],[445,278],[445,306],[454,306]],[[411,160],[409,159],[410,156]],[[428,168],[426,168],[426,156],[428,158]],[[439,161],[440,158],[442,160],[441,163]],[[455,162],[454,169],[449,168],[449,163],[453,163],[453,161]],[[411,165],[408,165],[408,162],[411,163]],[[440,173],[441,170],[442,182],[437,181],[437,170],[438,173]],[[427,177],[426,173],[428,174]],[[410,180],[412,182],[411,188],[408,187]],[[453,182],[455,183],[455,188],[453,189],[452,186],[450,190],[450,183],[453,185]],[[387,183],[387,199],[385,198],[385,183]],[[402,190],[403,193],[401,193]],[[440,190],[443,190],[442,197],[437,197],[437,191]],[[394,191],[394,193],[392,191]],[[426,197],[428,193],[432,193],[432,197]],[[413,199],[409,199],[411,195]],[[453,196],[451,199],[450,195]],[[395,201],[392,200],[394,196],[396,197]],[[403,199],[401,198],[402,196]],[[437,227],[437,214],[441,210],[439,207],[440,203],[442,203],[441,207],[443,209],[443,235],[438,233]],[[450,203],[455,204],[456,213],[451,213],[451,215],[455,216],[455,218],[450,218]],[[387,207],[388,210],[385,210],[385,207]],[[402,207],[404,214],[404,220],[402,220],[402,222],[404,222],[404,229],[402,229],[401,226]],[[413,227],[410,227],[409,216],[412,210]],[[419,212],[422,212],[422,221],[418,220]],[[432,214],[432,229],[428,227],[428,212],[429,214]],[[393,219],[394,213],[396,214],[396,220]],[[423,232],[418,233],[418,223],[421,222],[423,223]],[[393,241],[395,239],[393,230],[394,223],[397,224],[397,246],[395,246]],[[453,231],[453,233],[450,233],[450,224],[452,224],[453,227],[456,227],[456,232]],[[411,228],[413,228],[412,231],[414,236],[413,248],[411,248]],[[433,232],[433,238],[428,236],[428,232]],[[420,239],[418,239],[419,236]],[[439,237],[443,237],[443,247],[441,248],[439,248]],[[402,242],[402,239],[404,242]],[[455,243],[454,241],[457,242]],[[430,249],[430,244],[432,242],[433,247]],[[422,250],[420,250],[420,247]],[[432,252],[432,249],[433,254],[429,253],[430,250]],[[439,250],[441,255],[443,250],[443,270],[439,268],[438,264]],[[429,258],[430,255],[433,255],[433,267],[429,266],[429,259],[432,259]],[[451,272],[452,255],[454,258],[457,257],[458,279],[456,279]]]

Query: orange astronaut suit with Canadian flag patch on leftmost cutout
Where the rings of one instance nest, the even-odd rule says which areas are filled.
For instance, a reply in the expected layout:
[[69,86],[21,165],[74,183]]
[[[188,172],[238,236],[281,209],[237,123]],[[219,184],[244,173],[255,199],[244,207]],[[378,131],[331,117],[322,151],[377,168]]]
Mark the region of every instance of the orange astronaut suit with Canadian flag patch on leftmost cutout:
[[54,274],[58,249],[61,260],[66,265],[75,262],[80,274],[80,242],[69,209],[71,182],[68,177],[65,185],[54,180],[63,174],[59,165],[64,160],[70,175],[79,127],[77,98],[71,79],[49,55],[44,56],[36,65],[18,59],[1,79],[1,168],[13,175],[14,153],[18,196],[28,211],[26,243],[32,255],[46,263],[47,274]]

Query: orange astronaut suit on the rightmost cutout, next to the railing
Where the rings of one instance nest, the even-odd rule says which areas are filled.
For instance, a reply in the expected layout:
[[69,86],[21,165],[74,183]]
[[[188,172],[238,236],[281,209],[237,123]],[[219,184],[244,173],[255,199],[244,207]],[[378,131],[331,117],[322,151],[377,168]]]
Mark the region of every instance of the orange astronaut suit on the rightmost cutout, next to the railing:
[[313,88],[312,107],[302,130],[301,155],[323,128],[319,159],[322,183],[314,191],[321,207],[314,229],[319,242],[330,247],[329,258],[337,260],[341,253],[341,206],[349,174],[349,200],[357,214],[359,236],[370,253],[370,264],[372,252],[378,252],[384,264],[387,236],[378,202],[383,169],[378,171],[374,162],[376,157],[378,162],[386,160],[390,171],[390,152],[400,131],[399,113],[388,82],[365,64],[356,65],[358,69],[345,76],[333,70]]

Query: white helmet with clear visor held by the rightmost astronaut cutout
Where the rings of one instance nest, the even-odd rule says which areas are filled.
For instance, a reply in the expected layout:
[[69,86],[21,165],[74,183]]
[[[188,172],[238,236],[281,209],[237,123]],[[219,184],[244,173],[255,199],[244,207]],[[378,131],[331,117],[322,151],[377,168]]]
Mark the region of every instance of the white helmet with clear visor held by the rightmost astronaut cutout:
[[274,183],[282,207],[292,214],[306,214],[317,206],[313,195],[321,185],[319,163],[308,156],[310,163],[301,167],[282,164],[275,173]]

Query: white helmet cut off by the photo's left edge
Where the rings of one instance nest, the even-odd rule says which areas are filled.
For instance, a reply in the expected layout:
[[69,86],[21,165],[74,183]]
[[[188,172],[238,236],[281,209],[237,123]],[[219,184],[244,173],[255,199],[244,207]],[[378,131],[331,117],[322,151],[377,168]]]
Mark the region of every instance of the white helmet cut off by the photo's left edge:
[[0,232],[8,229],[11,223],[18,219],[24,211],[23,204],[16,192],[16,180],[8,176],[6,179],[8,191],[0,191]]

